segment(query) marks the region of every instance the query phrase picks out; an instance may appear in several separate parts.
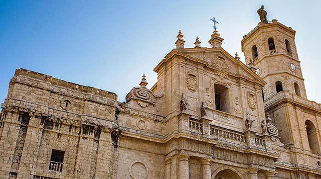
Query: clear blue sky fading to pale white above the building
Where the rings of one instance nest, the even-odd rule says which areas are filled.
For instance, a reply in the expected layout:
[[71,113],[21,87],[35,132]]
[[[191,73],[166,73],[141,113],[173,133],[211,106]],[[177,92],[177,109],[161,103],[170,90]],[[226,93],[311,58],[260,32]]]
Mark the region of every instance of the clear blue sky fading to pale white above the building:
[[0,102],[16,68],[114,92],[118,101],[175,48],[182,29],[185,47],[195,37],[209,47],[210,18],[219,21],[223,48],[241,52],[243,35],[268,20],[292,27],[309,100],[321,102],[321,1],[5,1],[0,0]]

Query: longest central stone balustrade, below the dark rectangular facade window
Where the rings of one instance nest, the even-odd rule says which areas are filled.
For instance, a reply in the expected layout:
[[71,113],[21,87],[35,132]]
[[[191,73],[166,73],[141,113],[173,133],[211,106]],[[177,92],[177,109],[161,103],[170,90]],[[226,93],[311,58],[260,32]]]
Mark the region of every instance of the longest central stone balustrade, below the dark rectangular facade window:
[[229,132],[222,129],[217,129],[214,127],[211,127],[211,135],[218,137],[221,140],[233,140],[238,141],[240,143],[246,143],[246,136],[234,132]]

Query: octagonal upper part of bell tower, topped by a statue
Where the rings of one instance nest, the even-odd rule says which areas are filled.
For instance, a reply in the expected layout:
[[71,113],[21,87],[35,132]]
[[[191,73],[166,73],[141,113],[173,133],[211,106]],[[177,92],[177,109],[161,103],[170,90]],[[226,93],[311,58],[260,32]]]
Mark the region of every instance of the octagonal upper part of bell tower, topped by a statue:
[[263,8],[257,11],[261,22],[241,41],[246,64],[267,82],[264,99],[281,91],[306,98],[295,31],[275,19],[267,21]]

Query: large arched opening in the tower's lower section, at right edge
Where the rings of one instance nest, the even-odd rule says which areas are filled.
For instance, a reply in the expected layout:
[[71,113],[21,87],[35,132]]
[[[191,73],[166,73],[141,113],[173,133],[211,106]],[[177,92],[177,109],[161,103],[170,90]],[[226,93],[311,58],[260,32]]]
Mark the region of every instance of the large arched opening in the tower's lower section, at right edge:
[[320,154],[319,142],[317,140],[316,130],[313,123],[309,120],[305,121],[306,135],[309,142],[310,151],[314,154]]

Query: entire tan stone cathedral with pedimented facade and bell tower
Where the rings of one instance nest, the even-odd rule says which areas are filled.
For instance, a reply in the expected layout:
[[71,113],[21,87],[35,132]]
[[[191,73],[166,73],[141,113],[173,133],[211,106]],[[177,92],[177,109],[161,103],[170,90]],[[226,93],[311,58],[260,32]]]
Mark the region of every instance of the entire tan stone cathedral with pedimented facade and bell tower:
[[[127,94],[16,69],[0,113],[0,178],[321,178],[321,105],[306,99],[295,31],[171,50]],[[215,23],[215,18],[213,18]],[[174,42],[174,41],[173,41]],[[139,82],[140,81],[140,82]]]

